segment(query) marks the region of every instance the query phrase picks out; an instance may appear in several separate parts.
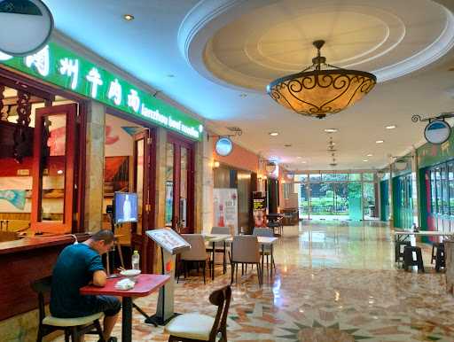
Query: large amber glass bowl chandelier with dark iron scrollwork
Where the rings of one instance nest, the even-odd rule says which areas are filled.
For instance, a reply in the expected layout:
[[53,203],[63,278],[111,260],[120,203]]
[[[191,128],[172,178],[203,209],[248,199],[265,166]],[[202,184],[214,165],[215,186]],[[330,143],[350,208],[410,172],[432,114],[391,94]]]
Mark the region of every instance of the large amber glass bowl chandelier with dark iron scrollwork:
[[326,58],[320,55],[325,41],[313,44],[317,57],[312,59],[312,66],[270,82],[267,92],[279,105],[301,115],[323,119],[327,114],[339,113],[354,105],[372,90],[377,78],[364,71],[327,64]]

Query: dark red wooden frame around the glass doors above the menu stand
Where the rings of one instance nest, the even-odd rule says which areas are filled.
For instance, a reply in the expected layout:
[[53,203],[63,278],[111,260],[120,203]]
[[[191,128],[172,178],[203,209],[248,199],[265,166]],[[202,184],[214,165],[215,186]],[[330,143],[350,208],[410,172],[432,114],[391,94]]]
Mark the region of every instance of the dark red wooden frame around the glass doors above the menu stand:
[[[183,136],[176,135],[168,132],[167,143],[173,144],[174,146],[174,175],[173,175],[173,212],[172,212],[172,227],[176,227],[176,213],[178,218],[181,218],[180,213],[180,189],[177,186],[180,185],[180,174],[181,174],[181,151],[180,148],[184,147],[188,154],[188,165],[187,165],[187,211],[186,211],[186,227],[182,232],[193,233],[195,231],[195,143],[192,140],[186,139]],[[175,148],[176,146],[180,148]],[[167,146],[166,146],[167,147]]]

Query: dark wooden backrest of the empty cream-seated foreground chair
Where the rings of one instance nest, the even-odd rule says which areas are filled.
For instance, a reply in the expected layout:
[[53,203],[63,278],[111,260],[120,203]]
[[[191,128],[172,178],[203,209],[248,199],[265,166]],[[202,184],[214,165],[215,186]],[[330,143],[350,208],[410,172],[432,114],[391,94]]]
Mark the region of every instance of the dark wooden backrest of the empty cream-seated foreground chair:
[[215,323],[209,333],[209,340],[215,341],[219,332],[223,334],[221,341],[227,341],[227,315],[229,315],[229,307],[231,305],[231,287],[230,285],[211,292],[209,295],[211,304],[217,307]]

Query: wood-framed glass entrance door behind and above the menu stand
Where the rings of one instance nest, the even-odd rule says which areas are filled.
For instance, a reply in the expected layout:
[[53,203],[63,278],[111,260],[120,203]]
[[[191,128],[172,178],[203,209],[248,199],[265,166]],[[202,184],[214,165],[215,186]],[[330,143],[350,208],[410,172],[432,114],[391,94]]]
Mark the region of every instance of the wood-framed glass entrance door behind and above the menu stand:
[[168,134],[166,146],[166,226],[194,231],[193,145]]

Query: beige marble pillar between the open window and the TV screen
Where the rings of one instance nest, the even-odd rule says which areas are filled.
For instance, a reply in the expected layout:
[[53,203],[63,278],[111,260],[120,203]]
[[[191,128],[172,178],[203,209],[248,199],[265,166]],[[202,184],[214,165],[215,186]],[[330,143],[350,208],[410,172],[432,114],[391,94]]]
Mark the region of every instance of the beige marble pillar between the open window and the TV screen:
[[87,105],[85,137],[85,231],[97,231],[102,227],[105,127],[105,105],[90,101]]

